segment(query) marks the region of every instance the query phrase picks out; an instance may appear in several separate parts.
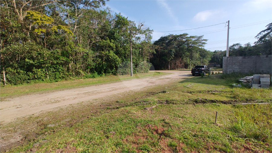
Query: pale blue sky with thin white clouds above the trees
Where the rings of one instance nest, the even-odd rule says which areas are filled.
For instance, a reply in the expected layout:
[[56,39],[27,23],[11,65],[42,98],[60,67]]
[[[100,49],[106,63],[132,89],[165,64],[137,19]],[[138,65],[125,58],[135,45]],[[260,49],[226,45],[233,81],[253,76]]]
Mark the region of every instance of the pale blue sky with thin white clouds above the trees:
[[[168,34],[204,35],[208,39],[204,48],[210,51],[226,50],[228,20],[229,46],[248,42],[254,45],[254,37],[272,22],[272,0],[110,0],[106,7],[129,20],[144,22],[154,30],[152,41]],[[199,28],[214,24],[219,25]],[[186,30],[192,28],[199,29]]]

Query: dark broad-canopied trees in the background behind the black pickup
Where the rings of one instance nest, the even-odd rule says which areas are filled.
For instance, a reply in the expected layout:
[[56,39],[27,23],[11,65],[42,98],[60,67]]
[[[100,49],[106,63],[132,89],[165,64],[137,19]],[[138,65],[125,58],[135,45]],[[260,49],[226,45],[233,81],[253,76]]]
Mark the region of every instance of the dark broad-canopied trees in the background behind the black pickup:
[[188,34],[167,35],[154,42],[155,52],[150,62],[155,69],[191,69],[195,65],[208,64],[212,52],[205,50],[203,36]]

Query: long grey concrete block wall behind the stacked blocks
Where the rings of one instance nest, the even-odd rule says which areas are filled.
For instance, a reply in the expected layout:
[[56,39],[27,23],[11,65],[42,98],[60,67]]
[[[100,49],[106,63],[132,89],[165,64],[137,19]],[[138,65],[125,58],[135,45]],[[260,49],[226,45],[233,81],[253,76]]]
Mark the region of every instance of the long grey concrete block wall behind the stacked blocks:
[[272,73],[272,55],[223,57],[223,73]]

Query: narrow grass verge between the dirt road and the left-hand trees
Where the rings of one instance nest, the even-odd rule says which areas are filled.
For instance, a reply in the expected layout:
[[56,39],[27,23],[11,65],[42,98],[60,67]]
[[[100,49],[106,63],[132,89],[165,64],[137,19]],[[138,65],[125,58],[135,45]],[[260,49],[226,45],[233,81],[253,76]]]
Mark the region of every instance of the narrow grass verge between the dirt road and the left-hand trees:
[[119,82],[124,80],[135,79],[135,78],[153,77],[153,76],[159,76],[159,75],[165,75],[165,74],[166,73],[149,72],[149,73],[134,74],[133,77],[131,77],[130,75],[124,75],[124,76],[110,75],[105,77],[83,79],[83,80],[67,80],[67,81],[53,82],[53,83],[36,83],[36,84],[24,84],[24,85],[4,86],[4,87],[2,86],[0,96],[1,96],[1,100],[3,100],[6,98],[10,98],[14,96],[22,96],[29,93],[80,88],[80,87],[90,86],[94,84],[105,84],[105,83]]

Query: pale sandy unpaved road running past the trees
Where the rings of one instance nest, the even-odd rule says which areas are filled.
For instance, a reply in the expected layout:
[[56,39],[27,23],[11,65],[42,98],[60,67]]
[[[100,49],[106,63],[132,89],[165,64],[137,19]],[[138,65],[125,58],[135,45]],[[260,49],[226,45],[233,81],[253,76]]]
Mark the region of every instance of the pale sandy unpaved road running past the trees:
[[103,96],[111,96],[131,90],[138,91],[149,86],[167,84],[176,79],[180,80],[191,76],[190,71],[159,72],[168,72],[169,74],[5,99],[5,101],[0,102],[0,122],[10,122],[18,117],[37,115],[42,112],[52,111],[58,107],[92,101]]

